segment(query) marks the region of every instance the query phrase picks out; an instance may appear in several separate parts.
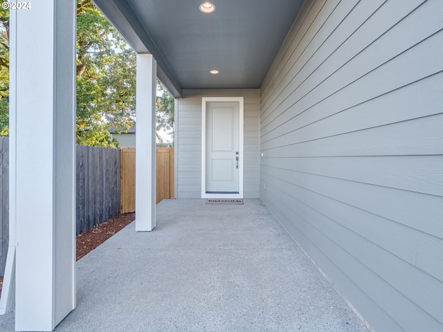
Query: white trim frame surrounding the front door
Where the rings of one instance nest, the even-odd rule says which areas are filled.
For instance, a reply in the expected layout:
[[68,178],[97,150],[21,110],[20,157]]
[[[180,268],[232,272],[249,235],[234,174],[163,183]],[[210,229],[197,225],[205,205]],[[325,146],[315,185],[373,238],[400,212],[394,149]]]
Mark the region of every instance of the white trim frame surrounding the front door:
[[[206,192],[206,104],[208,102],[239,103],[239,193],[208,194]],[[243,97],[202,97],[201,98],[201,198],[202,199],[242,199],[244,165],[244,98]]]

